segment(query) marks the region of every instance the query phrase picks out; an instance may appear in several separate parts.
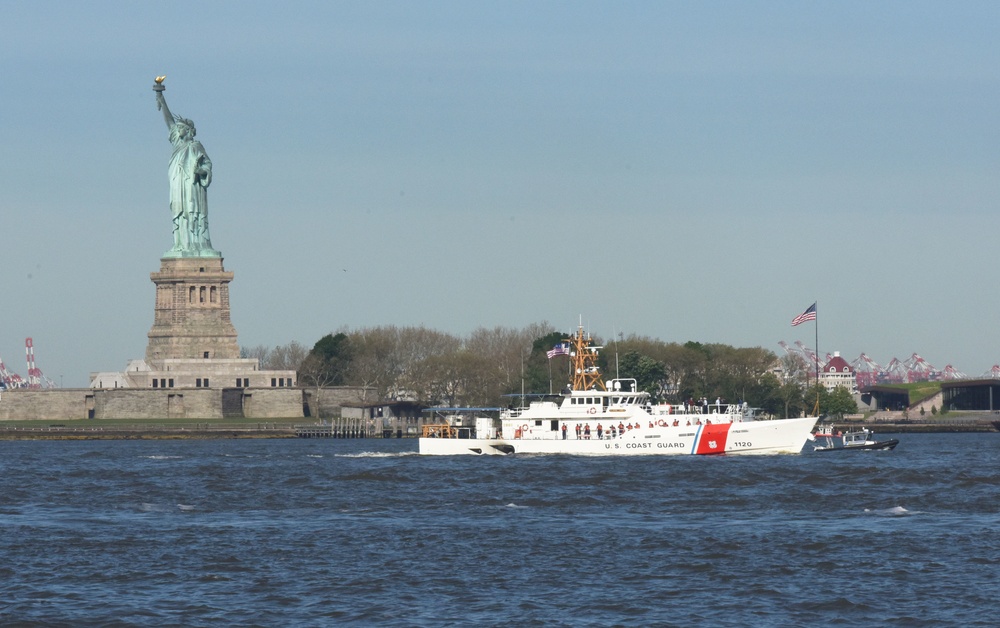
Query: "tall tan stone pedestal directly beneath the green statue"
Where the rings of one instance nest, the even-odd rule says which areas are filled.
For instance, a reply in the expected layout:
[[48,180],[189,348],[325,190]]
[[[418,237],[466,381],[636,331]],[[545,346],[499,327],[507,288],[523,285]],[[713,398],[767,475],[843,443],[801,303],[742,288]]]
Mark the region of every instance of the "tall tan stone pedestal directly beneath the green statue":
[[233,273],[221,257],[160,260],[156,316],[149,330],[146,362],[154,369],[171,359],[235,360],[240,357],[236,328],[229,318]]

